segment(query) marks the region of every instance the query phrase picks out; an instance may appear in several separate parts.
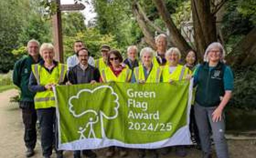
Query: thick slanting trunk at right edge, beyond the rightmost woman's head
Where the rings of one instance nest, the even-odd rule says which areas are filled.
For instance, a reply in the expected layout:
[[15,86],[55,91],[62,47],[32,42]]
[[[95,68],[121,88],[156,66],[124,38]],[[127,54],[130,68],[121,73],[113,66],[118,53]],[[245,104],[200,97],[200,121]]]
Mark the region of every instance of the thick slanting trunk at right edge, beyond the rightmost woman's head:
[[231,66],[249,66],[256,63],[256,27],[254,27],[226,56]]

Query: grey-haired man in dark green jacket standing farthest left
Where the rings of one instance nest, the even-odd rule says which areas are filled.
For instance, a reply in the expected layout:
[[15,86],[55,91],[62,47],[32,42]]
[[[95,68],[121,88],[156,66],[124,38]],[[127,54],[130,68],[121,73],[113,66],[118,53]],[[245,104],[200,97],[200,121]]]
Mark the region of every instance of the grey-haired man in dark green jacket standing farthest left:
[[34,104],[35,93],[29,91],[28,83],[31,74],[31,65],[41,60],[39,42],[30,40],[27,44],[28,55],[19,59],[13,68],[13,83],[21,90],[20,108],[24,123],[24,141],[27,148],[26,157],[34,155],[36,146],[36,110]]

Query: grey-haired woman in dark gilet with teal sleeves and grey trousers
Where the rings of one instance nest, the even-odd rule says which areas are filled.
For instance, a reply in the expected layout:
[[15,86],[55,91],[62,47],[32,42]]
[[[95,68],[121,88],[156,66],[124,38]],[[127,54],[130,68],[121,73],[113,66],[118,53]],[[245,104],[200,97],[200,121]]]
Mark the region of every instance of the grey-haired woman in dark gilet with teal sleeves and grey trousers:
[[205,52],[205,62],[194,71],[194,84],[197,85],[194,113],[203,158],[211,158],[210,130],[212,130],[217,157],[229,157],[223,110],[231,98],[234,78],[231,68],[223,63],[224,55],[225,52],[220,43],[211,43]]

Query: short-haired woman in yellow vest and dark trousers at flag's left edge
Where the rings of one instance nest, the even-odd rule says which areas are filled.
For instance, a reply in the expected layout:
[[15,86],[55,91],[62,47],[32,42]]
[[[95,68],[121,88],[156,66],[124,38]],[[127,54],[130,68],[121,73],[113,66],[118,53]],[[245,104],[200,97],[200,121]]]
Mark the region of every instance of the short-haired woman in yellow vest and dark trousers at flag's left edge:
[[[55,134],[57,134],[56,109],[52,88],[67,81],[67,67],[54,61],[54,54],[53,45],[51,43],[43,43],[40,47],[40,55],[43,60],[38,64],[32,65],[32,72],[29,78],[29,89],[36,93],[34,101],[41,131],[41,146],[44,158],[50,158],[52,144],[56,143],[53,132],[55,131]],[[62,151],[56,152],[57,158],[63,158]]]

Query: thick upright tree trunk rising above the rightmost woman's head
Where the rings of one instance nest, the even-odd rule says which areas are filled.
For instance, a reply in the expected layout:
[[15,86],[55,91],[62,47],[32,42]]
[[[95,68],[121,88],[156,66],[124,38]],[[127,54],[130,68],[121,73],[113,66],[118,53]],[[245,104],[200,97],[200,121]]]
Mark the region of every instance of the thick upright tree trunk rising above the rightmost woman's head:
[[216,18],[210,8],[210,0],[191,0],[195,45],[200,61],[206,47],[212,42],[217,42]]

